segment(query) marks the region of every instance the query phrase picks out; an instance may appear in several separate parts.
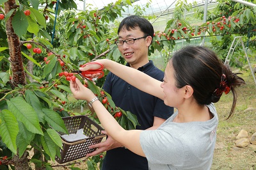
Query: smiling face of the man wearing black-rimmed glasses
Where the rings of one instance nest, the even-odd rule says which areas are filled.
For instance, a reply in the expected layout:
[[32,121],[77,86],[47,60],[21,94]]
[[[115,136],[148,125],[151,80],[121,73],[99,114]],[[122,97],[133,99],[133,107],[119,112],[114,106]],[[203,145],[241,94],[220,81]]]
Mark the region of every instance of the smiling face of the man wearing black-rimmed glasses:
[[[127,29],[121,29],[118,34],[118,40],[126,40],[128,38],[140,38],[145,36],[140,30],[140,27],[135,27],[128,31]],[[123,58],[130,65],[140,64],[141,61],[148,59],[148,46],[151,42],[151,36],[135,40],[132,44],[124,42],[123,45],[118,46]]]

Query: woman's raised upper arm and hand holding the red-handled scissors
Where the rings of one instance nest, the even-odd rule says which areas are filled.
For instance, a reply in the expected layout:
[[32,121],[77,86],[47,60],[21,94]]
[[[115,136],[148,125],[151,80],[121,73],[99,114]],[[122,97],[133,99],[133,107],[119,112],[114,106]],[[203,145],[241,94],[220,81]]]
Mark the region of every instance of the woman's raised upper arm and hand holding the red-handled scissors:
[[[140,72],[134,68],[129,66],[121,65],[116,63],[115,61],[111,61],[109,59],[99,59],[96,61],[97,63],[101,63],[107,68],[110,72],[114,73],[116,76],[120,77],[124,81],[128,82],[132,86],[153,95],[155,97],[161,98],[164,100],[163,89],[160,84],[161,81],[158,81],[149,75]],[[81,71],[92,70],[99,68],[99,65],[86,65],[83,68],[80,68]]]

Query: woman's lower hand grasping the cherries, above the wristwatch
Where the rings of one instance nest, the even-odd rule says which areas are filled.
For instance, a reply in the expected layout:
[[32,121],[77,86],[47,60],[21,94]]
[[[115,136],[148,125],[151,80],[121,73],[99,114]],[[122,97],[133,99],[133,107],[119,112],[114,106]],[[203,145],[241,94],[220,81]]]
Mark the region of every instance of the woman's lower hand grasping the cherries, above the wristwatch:
[[84,87],[79,79],[76,79],[76,81],[70,80],[70,90],[76,99],[91,101],[93,98],[95,98],[93,92]]

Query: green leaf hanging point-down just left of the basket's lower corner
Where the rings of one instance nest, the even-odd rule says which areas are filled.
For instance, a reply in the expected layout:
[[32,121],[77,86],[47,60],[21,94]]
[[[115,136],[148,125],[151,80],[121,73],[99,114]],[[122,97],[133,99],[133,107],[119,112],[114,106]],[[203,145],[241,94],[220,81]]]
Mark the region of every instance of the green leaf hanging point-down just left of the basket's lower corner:
[[56,144],[54,141],[52,141],[51,137],[47,133],[44,133],[44,135],[41,136],[41,142],[45,153],[54,160],[56,155]]

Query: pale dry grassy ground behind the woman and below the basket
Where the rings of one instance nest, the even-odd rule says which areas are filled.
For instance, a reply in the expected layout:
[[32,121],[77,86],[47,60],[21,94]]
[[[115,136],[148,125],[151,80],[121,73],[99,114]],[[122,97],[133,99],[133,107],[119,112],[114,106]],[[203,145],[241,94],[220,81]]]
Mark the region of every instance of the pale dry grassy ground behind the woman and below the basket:
[[[246,85],[237,90],[236,110],[232,118],[226,120],[232,106],[232,93],[224,94],[215,104],[219,125],[211,170],[256,170],[256,145],[250,144],[245,148],[237,148],[234,143],[242,129],[248,132],[248,138],[256,133],[256,86],[249,68],[236,71],[243,73],[241,77],[246,81]],[[248,108],[249,111],[245,111]],[[86,169],[86,158],[77,162],[80,163],[74,167]],[[54,169],[69,168],[54,167]]]

